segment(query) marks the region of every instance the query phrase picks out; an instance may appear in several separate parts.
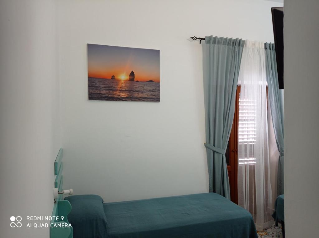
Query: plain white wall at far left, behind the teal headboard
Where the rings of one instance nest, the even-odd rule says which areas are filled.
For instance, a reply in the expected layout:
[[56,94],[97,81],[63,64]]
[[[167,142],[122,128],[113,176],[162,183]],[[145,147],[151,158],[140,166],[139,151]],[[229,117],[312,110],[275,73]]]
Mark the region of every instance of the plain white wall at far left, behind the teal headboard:
[[[49,237],[26,215],[51,215],[61,146],[56,3],[0,3],[0,237]],[[22,216],[22,228],[10,217]]]

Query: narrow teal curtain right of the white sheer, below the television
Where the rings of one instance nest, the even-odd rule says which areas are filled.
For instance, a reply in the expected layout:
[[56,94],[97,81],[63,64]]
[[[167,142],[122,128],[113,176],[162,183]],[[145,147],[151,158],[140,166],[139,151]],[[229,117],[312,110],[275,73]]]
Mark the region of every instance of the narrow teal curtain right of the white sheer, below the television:
[[278,87],[278,73],[274,44],[265,43],[265,58],[272,124],[279,151],[277,175],[277,196],[279,196],[284,194],[284,89],[279,89]]

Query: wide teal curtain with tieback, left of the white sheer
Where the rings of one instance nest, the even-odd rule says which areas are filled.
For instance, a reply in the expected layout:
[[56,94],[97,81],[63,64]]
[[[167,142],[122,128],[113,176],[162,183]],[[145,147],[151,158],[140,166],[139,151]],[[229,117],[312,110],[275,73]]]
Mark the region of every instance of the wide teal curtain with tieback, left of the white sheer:
[[225,152],[232,129],[245,41],[206,36],[203,44],[206,152],[209,192],[230,199]]

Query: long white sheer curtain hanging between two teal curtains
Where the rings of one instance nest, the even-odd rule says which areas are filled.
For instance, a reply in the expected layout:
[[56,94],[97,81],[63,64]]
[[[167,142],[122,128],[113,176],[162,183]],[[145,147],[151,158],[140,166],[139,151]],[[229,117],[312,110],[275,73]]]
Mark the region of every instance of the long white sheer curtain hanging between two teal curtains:
[[257,230],[273,223],[267,125],[267,81],[262,42],[245,41],[239,72],[238,204]]

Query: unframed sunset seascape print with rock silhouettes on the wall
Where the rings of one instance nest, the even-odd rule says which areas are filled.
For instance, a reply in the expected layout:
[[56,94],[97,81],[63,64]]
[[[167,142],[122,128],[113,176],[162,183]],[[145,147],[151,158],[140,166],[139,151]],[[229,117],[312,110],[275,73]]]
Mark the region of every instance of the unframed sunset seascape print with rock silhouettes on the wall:
[[159,50],[87,44],[89,100],[160,101]]

